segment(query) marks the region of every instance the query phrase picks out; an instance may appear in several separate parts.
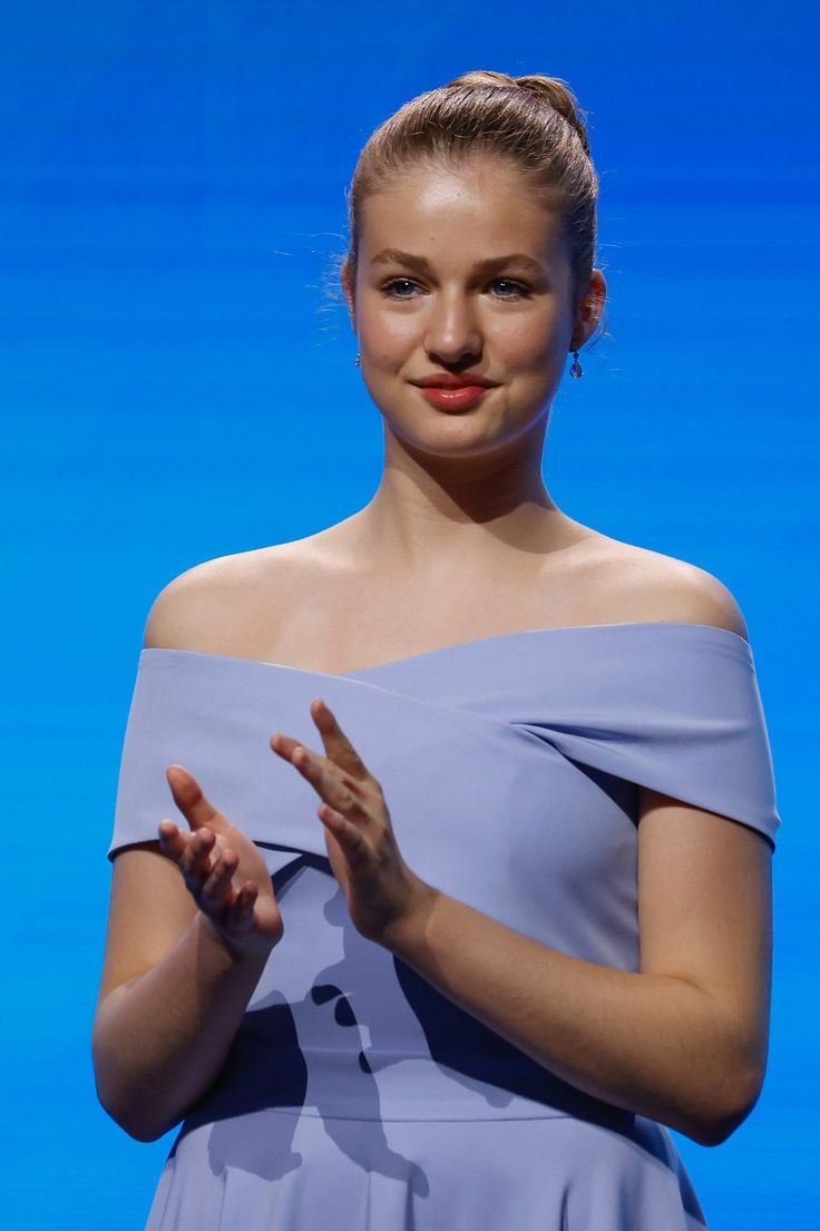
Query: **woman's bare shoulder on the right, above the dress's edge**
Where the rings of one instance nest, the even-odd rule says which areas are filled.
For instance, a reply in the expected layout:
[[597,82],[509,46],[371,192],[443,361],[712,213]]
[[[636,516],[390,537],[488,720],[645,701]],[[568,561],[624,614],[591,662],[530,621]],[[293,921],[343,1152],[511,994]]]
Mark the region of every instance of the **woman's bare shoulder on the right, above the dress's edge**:
[[621,579],[618,603],[627,618],[712,624],[749,640],[744,614],[731,591],[708,570],[630,543],[608,540],[608,565]]

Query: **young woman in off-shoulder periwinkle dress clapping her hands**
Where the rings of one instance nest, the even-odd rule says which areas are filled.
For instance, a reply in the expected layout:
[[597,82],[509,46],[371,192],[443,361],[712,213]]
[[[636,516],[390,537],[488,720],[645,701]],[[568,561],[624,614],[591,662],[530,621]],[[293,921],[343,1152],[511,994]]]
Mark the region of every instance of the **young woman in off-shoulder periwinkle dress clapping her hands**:
[[758,1097],[779,816],[733,596],[543,483],[597,191],[559,79],[382,124],[341,271],[378,490],[153,604],[92,1040],[127,1133],[182,1121],[150,1231],[705,1226],[667,1128]]

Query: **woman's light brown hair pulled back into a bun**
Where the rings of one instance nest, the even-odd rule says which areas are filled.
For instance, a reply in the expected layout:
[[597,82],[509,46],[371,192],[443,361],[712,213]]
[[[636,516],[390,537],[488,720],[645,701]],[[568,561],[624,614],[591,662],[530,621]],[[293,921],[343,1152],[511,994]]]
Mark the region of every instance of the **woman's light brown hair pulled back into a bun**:
[[586,112],[560,78],[512,78],[490,69],[417,95],[372,133],[347,193],[351,287],[367,198],[420,162],[458,169],[474,154],[508,159],[536,199],[560,211],[577,308],[595,267],[597,236],[598,177]]

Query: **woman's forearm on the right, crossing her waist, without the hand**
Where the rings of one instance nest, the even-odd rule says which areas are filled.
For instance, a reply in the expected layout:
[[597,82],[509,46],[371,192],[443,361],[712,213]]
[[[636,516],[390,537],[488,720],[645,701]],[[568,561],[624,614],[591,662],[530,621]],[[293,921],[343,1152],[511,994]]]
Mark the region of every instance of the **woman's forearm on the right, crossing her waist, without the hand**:
[[438,890],[383,942],[467,1013],[564,1081],[717,1144],[747,1108],[720,1004],[665,975],[547,948]]

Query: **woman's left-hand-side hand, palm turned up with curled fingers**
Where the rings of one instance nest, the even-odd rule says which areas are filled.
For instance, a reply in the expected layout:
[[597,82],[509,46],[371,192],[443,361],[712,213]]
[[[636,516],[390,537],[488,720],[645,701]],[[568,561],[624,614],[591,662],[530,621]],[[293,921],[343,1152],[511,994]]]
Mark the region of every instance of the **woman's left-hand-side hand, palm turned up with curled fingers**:
[[259,848],[206,799],[185,766],[169,766],[165,777],[191,831],[160,821],[160,848],[174,859],[197,906],[231,952],[272,949],[284,923]]

